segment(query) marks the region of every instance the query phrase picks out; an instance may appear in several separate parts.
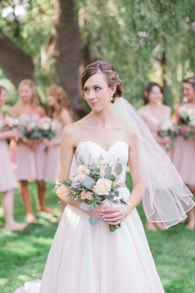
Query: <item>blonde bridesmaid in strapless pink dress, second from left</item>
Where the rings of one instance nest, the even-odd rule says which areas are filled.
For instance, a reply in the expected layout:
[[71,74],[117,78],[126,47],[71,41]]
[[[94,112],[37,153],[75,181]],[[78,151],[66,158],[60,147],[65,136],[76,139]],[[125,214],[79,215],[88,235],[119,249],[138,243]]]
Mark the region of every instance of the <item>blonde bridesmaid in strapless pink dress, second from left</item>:
[[[18,116],[20,122],[34,121],[37,123],[41,117],[46,115],[44,108],[39,106],[38,94],[35,83],[32,80],[22,80],[18,87],[18,93],[21,102],[14,105],[10,113]],[[28,188],[29,179],[35,180],[37,184],[36,201],[38,210],[53,214],[52,209],[44,205],[45,152],[43,144],[40,141],[23,138],[19,140],[19,145],[16,142],[11,143],[10,152],[11,157],[14,157],[15,154],[16,177],[20,181],[19,192],[26,209],[27,222],[37,222],[31,206],[31,196]]]

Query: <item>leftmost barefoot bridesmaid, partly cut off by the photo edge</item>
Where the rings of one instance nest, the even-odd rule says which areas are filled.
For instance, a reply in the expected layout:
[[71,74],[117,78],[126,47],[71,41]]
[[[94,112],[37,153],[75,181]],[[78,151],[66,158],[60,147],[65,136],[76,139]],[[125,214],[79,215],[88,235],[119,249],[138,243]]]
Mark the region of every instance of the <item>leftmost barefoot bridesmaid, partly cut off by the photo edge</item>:
[[[0,86],[0,107],[6,102],[6,90]],[[19,223],[13,217],[13,191],[18,188],[16,176],[11,167],[8,146],[6,138],[18,135],[18,130],[2,131],[4,125],[4,117],[0,111],[0,191],[3,192],[2,207],[5,215],[5,228],[9,230],[23,230],[26,228],[26,223]],[[0,222],[0,226],[4,226]]]

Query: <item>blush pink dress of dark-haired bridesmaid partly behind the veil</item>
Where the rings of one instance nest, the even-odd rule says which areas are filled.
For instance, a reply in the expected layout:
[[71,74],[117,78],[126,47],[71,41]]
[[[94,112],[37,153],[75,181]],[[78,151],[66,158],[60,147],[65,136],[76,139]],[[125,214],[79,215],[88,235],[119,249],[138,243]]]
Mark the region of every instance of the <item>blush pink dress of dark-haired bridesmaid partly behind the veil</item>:
[[[151,113],[146,111],[144,109],[144,107],[142,107],[138,110],[138,112],[140,113],[140,115],[142,116],[142,118],[144,119],[146,124],[148,125],[149,130],[151,131],[151,133],[154,137],[158,136],[158,131],[161,128],[161,124],[164,121],[171,119],[171,108],[169,106],[166,106],[166,108],[167,109],[166,109],[162,118],[159,118],[157,116],[152,115]],[[171,149],[167,150],[166,145],[161,145],[161,144],[159,144],[159,145],[164,150],[164,152],[168,155],[168,157],[171,158],[171,156],[172,156]]]

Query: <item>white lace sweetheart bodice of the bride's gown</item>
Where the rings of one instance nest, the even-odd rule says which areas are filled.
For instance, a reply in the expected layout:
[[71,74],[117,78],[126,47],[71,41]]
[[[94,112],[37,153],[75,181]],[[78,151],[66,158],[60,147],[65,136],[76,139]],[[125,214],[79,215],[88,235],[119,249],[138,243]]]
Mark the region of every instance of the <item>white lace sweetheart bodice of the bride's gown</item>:
[[77,147],[77,159],[78,156],[82,156],[84,161],[89,160],[89,154],[91,154],[91,160],[97,161],[100,156],[103,157],[104,161],[115,167],[117,159],[122,164],[123,172],[121,174],[121,182],[125,182],[126,179],[126,166],[128,161],[129,147],[126,142],[117,141],[108,151],[105,151],[101,146],[95,142],[88,140],[87,142],[78,143]]

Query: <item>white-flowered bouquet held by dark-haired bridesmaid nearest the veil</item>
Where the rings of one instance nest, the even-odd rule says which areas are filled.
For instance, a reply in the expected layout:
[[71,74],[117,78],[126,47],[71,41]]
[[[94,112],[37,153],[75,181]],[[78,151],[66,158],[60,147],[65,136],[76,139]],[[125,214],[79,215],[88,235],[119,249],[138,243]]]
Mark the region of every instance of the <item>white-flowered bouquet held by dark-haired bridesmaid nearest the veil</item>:
[[[161,124],[161,128],[158,131],[158,135],[161,137],[170,136],[175,139],[178,136],[179,130],[178,125],[175,124],[171,119],[164,121]],[[170,145],[166,144],[167,151],[170,149]]]

